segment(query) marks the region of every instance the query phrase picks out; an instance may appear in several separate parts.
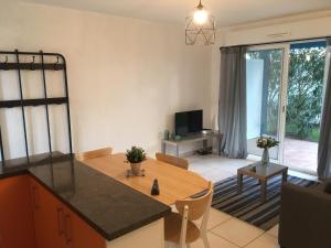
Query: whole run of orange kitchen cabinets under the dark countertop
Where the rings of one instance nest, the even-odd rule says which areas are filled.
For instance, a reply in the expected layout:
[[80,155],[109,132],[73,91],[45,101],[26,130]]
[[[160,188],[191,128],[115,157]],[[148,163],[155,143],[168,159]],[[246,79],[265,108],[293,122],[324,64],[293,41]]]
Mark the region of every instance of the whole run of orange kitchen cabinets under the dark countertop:
[[105,239],[30,175],[0,180],[0,248],[105,248]]

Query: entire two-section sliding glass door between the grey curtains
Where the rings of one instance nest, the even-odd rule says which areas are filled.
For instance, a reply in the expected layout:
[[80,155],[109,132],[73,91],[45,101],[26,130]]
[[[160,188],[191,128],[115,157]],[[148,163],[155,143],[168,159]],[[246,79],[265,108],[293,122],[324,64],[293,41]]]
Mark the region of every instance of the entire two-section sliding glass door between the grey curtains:
[[270,158],[317,172],[324,90],[325,41],[252,46],[246,54],[247,149],[261,155],[256,139],[279,140]]

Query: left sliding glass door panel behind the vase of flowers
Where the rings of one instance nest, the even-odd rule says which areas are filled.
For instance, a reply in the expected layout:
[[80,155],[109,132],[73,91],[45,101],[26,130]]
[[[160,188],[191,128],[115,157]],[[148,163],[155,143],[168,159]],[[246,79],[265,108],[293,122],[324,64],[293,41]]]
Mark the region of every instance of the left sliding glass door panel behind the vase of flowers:
[[[249,154],[261,155],[256,147],[260,136],[281,140],[284,83],[288,61],[287,47],[250,47],[246,54],[247,79],[247,149]],[[270,149],[270,158],[281,159],[281,145]]]

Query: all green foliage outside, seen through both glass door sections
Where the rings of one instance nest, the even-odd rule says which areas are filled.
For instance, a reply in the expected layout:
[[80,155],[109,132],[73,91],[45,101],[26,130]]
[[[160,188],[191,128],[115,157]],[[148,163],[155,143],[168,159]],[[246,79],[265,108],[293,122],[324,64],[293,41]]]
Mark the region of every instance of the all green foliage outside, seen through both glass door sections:
[[[287,89],[286,137],[317,142],[321,120],[325,48],[291,48]],[[266,130],[261,134],[278,133],[282,52],[248,52],[247,60],[264,60],[268,78]]]

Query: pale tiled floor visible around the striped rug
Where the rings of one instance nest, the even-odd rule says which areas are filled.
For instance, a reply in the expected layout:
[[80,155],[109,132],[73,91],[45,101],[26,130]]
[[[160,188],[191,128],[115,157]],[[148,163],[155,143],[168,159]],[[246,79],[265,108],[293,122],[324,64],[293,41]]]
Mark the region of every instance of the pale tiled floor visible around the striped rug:
[[[236,175],[237,169],[252,163],[250,160],[233,160],[217,155],[188,158],[190,170],[207,180],[217,182],[228,176]],[[314,176],[289,171],[289,174],[316,180]],[[268,231],[252,226],[231,215],[211,208],[209,219],[209,241],[211,248],[279,248],[277,235],[278,225]],[[202,240],[196,240],[191,248],[204,248]]]

